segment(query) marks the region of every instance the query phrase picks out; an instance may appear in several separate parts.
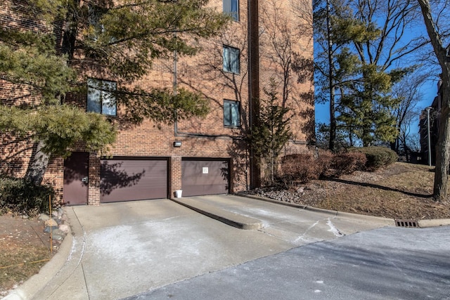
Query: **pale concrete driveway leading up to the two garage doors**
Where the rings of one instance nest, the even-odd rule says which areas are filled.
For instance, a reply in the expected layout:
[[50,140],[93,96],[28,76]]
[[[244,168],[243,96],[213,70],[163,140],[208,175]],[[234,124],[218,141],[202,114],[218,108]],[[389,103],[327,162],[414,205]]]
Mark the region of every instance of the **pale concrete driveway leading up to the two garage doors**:
[[224,219],[257,220],[259,229],[238,229],[171,200],[68,207],[72,235],[41,273],[12,296],[121,299],[390,222],[233,195],[186,200],[200,210],[221,211]]

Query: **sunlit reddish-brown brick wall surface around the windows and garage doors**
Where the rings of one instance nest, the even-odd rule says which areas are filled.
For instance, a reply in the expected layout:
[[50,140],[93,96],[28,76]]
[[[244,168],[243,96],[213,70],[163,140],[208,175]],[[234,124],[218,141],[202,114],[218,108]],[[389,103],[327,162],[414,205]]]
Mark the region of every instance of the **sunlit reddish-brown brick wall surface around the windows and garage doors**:
[[[100,159],[101,155],[114,156],[136,156],[136,157],[169,157],[169,196],[173,197],[174,190],[181,188],[181,158],[182,157],[215,157],[231,158],[231,191],[245,190],[250,184],[250,170],[248,166],[248,152],[245,142],[242,140],[249,127],[249,103],[248,103],[248,1],[240,1],[240,20],[233,22],[231,27],[220,37],[198,41],[203,51],[193,57],[179,57],[176,67],[176,81],[179,87],[198,91],[210,100],[210,114],[205,118],[194,117],[183,120],[175,124],[162,125],[150,121],[144,121],[139,126],[122,126],[120,117],[113,118],[120,128],[117,141],[112,145],[108,153],[91,153],[89,155],[89,204],[98,204],[100,197]],[[264,12],[274,14],[268,7],[276,7],[281,10],[281,15],[288,16],[291,1],[270,0],[259,1],[260,9]],[[281,5],[283,4],[283,5]],[[214,0],[211,3],[221,9],[221,1]],[[311,6],[310,2],[308,4]],[[263,16],[263,11],[260,16]],[[279,13],[279,12],[278,12]],[[266,18],[268,15],[265,16]],[[9,18],[9,19],[8,19]],[[10,20],[11,26],[20,23],[15,18],[10,18],[8,14],[0,13],[0,22]],[[290,22],[294,24],[295,22]],[[18,25],[18,26],[21,26]],[[27,25],[28,26],[28,25]],[[35,26],[30,22],[30,27]],[[260,32],[268,30],[268,25],[261,24]],[[266,87],[271,77],[280,77],[279,62],[271,59],[274,55],[273,45],[270,45],[264,33],[260,44],[260,87]],[[231,74],[222,71],[222,46],[232,46],[240,49],[240,74]],[[295,37],[293,39],[293,51],[302,53],[303,56],[312,58],[312,45],[307,38]],[[79,58],[82,58],[80,55]],[[96,77],[106,80],[115,80],[108,77],[105,70],[97,70],[93,64],[87,60],[80,60],[77,67],[81,71],[80,79],[86,77]],[[146,77],[134,83],[143,89],[166,87],[172,89],[174,84],[174,60],[173,58],[155,60],[153,69]],[[83,79],[84,80],[84,79]],[[119,86],[123,82],[117,83]],[[312,91],[311,81],[297,84],[294,75],[290,80],[289,105],[295,118],[293,120],[293,130],[295,141],[285,148],[285,152],[298,152],[306,149],[306,144],[311,141],[311,128],[305,124],[314,124],[314,100],[305,100],[303,93]],[[5,84],[0,83],[0,89],[6,89]],[[264,93],[261,93],[263,96]],[[11,98],[11,97],[9,97]],[[3,98],[2,98],[3,99]],[[224,127],[223,105],[224,99],[240,101],[241,107],[241,128],[230,129]],[[68,97],[68,102],[77,103],[80,107],[86,107],[86,95],[72,95]],[[121,115],[124,107],[118,107],[118,114]],[[314,136],[314,125],[312,127]],[[2,137],[2,143],[7,143],[8,138]],[[180,148],[174,148],[174,141],[181,141]],[[26,169],[26,160],[29,152],[23,152],[20,162],[10,162],[6,164],[4,158],[9,152],[17,151],[26,147],[27,143],[18,144],[18,148],[2,147],[0,152],[1,171],[5,167],[12,169],[13,174],[20,176]],[[9,146],[8,146],[9,147]],[[77,146],[77,151],[83,151],[82,145]],[[63,195],[63,159],[53,158],[49,169],[46,172],[46,181],[55,185],[58,197],[61,200]]]

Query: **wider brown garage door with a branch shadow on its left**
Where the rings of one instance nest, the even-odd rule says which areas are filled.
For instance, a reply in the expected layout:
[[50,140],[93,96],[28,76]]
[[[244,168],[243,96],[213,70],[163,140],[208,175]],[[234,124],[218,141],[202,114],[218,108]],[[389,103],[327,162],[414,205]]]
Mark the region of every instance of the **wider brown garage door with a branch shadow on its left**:
[[167,159],[101,160],[100,202],[167,198]]

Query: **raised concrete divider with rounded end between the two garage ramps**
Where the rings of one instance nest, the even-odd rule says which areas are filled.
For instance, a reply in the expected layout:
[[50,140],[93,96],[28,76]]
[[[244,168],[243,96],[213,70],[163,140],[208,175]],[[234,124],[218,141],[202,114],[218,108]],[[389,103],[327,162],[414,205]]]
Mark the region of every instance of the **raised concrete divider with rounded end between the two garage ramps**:
[[262,222],[257,219],[253,219],[248,216],[242,216],[240,214],[233,214],[229,211],[219,209],[210,204],[191,200],[188,198],[172,198],[171,200],[178,204],[184,205],[185,207],[193,209],[200,214],[204,214],[205,216],[209,216],[212,219],[216,219],[217,221],[221,221],[222,223],[226,223],[227,225],[236,228],[245,230],[258,230],[259,228],[262,228]]

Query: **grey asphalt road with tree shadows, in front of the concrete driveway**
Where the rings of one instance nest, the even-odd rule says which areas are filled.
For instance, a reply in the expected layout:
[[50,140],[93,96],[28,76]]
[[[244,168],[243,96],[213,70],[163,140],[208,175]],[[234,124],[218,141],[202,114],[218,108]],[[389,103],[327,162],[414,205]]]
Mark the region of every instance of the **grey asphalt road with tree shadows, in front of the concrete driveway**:
[[368,230],[127,299],[450,299],[450,227]]

